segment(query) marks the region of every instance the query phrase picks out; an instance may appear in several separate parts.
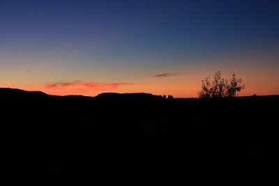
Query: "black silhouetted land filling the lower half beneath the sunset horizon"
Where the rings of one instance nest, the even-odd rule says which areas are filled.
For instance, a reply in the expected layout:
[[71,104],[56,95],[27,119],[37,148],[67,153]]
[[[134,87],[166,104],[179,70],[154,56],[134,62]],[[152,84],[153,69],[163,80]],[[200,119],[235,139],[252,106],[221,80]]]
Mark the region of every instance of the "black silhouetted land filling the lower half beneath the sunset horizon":
[[227,185],[279,176],[277,95],[91,98],[0,88],[0,103],[1,183]]

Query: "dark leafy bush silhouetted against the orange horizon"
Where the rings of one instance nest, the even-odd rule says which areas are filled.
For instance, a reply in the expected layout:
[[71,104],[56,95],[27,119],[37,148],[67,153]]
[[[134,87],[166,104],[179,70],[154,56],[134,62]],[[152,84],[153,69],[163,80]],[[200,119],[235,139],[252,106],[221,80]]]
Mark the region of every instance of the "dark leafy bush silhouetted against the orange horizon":
[[232,74],[232,79],[224,79],[221,77],[220,70],[215,73],[214,79],[211,82],[210,77],[202,80],[202,90],[198,92],[199,98],[232,98],[245,88],[241,84],[242,79],[236,79],[235,73]]

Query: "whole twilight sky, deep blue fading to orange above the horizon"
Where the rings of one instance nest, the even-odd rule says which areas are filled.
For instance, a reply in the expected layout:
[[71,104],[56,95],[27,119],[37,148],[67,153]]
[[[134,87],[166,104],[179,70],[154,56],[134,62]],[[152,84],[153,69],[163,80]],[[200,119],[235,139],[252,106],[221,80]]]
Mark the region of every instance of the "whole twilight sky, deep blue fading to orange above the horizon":
[[220,70],[279,95],[279,1],[0,0],[0,87],[197,98]]

